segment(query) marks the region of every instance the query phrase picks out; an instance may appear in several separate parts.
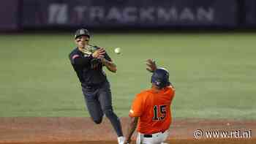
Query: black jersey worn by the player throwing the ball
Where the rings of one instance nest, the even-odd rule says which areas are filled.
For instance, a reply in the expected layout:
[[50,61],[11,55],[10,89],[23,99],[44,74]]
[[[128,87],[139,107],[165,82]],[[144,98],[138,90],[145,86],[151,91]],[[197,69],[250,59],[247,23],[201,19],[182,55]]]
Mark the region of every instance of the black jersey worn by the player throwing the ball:
[[[91,55],[82,53],[78,48],[72,50],[69,54],[69,60],[74,68],[78,79],[82,86],[94,86],[99,85],[107,80],[105,72],[103,71],[103,65],[100,63],[96,69],[91,68]],[[112,61],[111,58],[105,53],[105,59]]]

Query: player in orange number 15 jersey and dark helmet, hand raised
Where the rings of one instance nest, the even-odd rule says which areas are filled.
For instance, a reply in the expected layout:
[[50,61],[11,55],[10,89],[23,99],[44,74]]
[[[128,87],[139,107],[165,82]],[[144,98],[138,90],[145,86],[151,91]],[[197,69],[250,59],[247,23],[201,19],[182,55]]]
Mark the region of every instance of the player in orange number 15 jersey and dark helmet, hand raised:
[[137,144],[161,144],[168,136],[172,120],[170,105],[175,95],[175,89],[169,82],[169,72],[166,69],[157,68],[152,60],[148,60],[147,65],[149,66],[147,69],[153,72],[152,86],[137,94],[132,102],[124,143],[130,143],[137,125]]

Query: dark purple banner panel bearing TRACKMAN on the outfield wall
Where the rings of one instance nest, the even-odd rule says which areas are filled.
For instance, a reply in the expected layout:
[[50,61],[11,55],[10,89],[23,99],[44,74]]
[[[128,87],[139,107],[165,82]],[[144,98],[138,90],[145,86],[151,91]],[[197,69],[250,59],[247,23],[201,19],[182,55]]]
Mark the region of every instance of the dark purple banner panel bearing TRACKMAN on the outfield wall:
[[[236,26],[236,1],[24,1],[23,26]],[[32,12],[33,11],[33,12]],[[34,12],[35,11],[35,12]]]

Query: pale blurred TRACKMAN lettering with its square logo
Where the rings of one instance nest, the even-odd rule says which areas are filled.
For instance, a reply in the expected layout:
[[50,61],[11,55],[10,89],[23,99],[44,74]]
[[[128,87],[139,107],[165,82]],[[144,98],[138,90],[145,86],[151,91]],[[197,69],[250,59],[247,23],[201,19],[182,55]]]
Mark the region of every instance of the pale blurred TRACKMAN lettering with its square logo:
[[75,6],[68,4],[50,4],[48,7],[48,23],[172,23],[214,21],[214,8],[196,7],[99,7]]

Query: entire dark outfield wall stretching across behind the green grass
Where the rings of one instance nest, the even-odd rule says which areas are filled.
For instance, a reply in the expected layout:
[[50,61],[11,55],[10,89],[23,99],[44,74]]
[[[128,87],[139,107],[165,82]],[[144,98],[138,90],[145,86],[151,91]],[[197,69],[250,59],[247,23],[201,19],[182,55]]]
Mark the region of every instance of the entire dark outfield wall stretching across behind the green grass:
[[255,0],[1,0],[0,30],[39,28],[241,28]]

